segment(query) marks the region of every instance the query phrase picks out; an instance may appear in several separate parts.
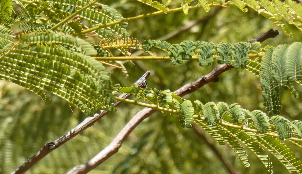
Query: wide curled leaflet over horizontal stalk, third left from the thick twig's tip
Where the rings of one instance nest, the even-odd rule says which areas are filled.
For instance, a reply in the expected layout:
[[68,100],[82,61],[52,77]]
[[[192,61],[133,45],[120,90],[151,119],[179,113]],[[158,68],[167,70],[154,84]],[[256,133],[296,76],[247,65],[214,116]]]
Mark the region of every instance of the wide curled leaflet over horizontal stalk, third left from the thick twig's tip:
[[212,43],[204,43],[198,47],[197,59],[200,66],[210,66],[214,62],[213,55],[215,45]]

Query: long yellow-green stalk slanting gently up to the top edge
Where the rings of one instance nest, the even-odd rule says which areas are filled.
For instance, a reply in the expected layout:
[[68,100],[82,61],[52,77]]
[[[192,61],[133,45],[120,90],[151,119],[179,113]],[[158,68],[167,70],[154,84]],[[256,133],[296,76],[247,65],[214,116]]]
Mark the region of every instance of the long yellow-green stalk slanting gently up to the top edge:
[[[229,2],[224,3],[223,5],[214,4],[214,3],[209,4],[210,7],[221,7],[221,6],[226,7],[226,6],[230,6],[230,5],[234,5],[234,4],[233,3],[229,3]],[[196,8],[202,8],[202,6],[201,5],[191,6],[191,7],[189,7],[189,10],[190,9],[196,9]],[[84,34],[84,33],[89,33],[89,32],[92,32],[94,30],[98,30],[98,29],[104,28],[104,27],[109,27],[109,26],[115,25],[115,24],[120,24],[122,22],[133,21],[133,20],[140,19],[140,18],[156,16],[156,15],[159,15],[159,14],[172,13],[172,12],[176,12],[176,11],[182,11],[182,7],[173,8],[173,9],[170,9],[170,10],[165,11],[165,12],[163,12],[163,11],[156,11],[156,12],[153,12],[153,13],[141,14],[141,15],[134,16],[134,17],[127,17],[127,18],[124,18],[124,19],[121,19],[121,20],[118,20],[118,21],[109,22],[107,24],[102,24],[102,25],[98,25],[98,26],[89,28],[87,30],[83,30],[83,31],[81,31],[79,33],[73,34],[72,36],[78,36],[78,35],[81,35],[81,34]]]

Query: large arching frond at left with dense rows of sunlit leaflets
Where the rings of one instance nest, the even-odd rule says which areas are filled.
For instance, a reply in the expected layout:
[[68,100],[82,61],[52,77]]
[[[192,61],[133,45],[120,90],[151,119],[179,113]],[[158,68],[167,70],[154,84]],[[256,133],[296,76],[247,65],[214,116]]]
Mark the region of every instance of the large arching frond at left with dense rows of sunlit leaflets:
[[19,84],[44,101],[47,90],[79,107],[86,114],[100,109],[114,111],[112,82],[92,45],[65,33],[27,33],[12,43],[9,30],[0,27],[0,78]]

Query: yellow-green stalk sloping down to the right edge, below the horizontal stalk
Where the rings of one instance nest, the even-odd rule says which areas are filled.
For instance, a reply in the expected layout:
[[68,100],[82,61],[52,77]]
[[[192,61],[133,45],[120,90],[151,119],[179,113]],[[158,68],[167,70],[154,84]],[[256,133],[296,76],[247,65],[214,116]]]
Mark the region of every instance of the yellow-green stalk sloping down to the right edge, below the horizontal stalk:
[[[167,108],[163,108],[163,107],[156,106],[156,105],[153,105],[153,104],[146,104],[146,103],[138,102],[138,101],[135,101],[135,100],[129,100],[129,99],[124,99],[124,98],[120,98],[120,97],[115,97],[115,99],[118,100],[118,101],[124,102],[124,103],[130,103],[130,104],[134,104],[134,105],[137,105],[137,106],[143,106],[143,107],[146,107],[146,108],[151,108],[151,109],[155,109],[155,110],[159,110],[159,111],[163,111],[163,112],[169,112],[169,113],[176,114],[176,115],[179,114],[179,112],[177,112],[174,109],[167,109]],[[201,115],[194,115],[194,117],[195,117],[195,119],[202,120],[202,121],[205,121],[205,119],[206,119],[205,117],[203,117]],[[271,133],[271,132],[259,133],[255,129],[248,128],[246,126],[241,126],[241,125],[233,125],[231,123],[224,122],[224,121],[219,122],[217,124],[222,125],[222,126],[228,126],[228,127],[235,128],[235,129],[244,130],[244,131],[254,132],[254,133],[257,133],[257,134],[269,135],[269,136],[276,137],[276,138],[279,137],[278,134],[274,134],[274,133]],[[302,142],[301,138],[291,137],[291,138],[287,138],[287,139],[292,140],[292,141]]]

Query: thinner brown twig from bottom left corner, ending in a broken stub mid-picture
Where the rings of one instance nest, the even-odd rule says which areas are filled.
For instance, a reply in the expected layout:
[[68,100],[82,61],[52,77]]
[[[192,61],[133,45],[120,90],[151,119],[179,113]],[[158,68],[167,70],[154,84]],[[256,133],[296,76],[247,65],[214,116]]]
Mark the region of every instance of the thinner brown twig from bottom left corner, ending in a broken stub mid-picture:
[[[150,75],[150,71],[147,71],[143,76],[138,79],[135,83],[138,84],[140,87],[145,88],[146,87],[146,78],[148,78]],[[120,97],[122,98],[129,98],[131,94],[122,94]],[[121,102],[117,101],[114,103],[114,107],[118,106]],[[79,125],[77,125],[75,128],[70,130],[67,134],[63,135],[62,137],[56,139],[55,141],[46,143],[42,149],[40,149],[34,156],[32,156],[30,159],[28,159],[22,166],[20,166],[18,169],[16,169],[12,174],[21,174],[26,172],[28,169],[30,169],[32,166],[34,166],[37,162],[39,162],[43,157],[45,157],[47,154],[55,150],[56,148],[60,147],[85,129],[89,128],[90,126],[94,125],[95,122],[97,122],[99,119],[101,119],[104,115],[106,115],[107,111],[101,111],[100,114],[95,114],[93,117],[86,118],[83,122],[81,122]]]

